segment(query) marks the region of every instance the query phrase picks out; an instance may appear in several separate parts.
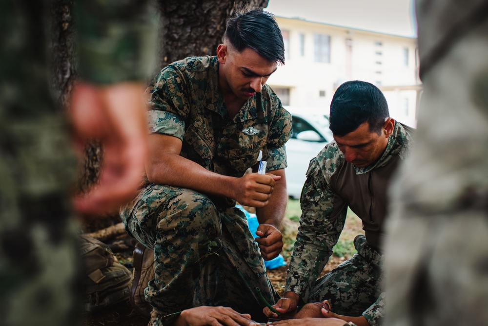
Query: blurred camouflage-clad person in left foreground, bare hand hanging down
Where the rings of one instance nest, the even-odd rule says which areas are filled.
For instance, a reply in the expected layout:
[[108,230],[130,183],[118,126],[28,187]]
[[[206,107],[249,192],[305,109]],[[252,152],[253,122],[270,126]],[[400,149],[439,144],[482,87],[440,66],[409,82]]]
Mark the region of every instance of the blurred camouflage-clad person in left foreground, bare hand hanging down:
[[[120,206],[140,178],[147,148],[145,128],[139,128],[145,121],[143,88],[133,82],[143,79],[147,69],[142,67],[150,63],[152,51],[132,41],[142,43],[153,28],[141,23],[146,8],[141,1],[78,2],[80,75],[85,82],[74,90],[73,131],[80,140],[105,135],[102,143],[109,158],[119,161],[119,174],[108,178],[110,184],[103,179],[96,192],[75,200],[81,212],[95,213]],[[75,159],[66,121],[48,88],[43,33],[48,4],[0,3],[0,325],[67,326],[80,321],[75,281],[79,254],[68,194]],[[87,97],[90,105],[83,101]],[[130,122],[119,124],[122,117]],[[131,142],[125,143],[128,138]],[[125,156],[127,152],[137,157]],[[102,175],[113,168],[107,163]]]

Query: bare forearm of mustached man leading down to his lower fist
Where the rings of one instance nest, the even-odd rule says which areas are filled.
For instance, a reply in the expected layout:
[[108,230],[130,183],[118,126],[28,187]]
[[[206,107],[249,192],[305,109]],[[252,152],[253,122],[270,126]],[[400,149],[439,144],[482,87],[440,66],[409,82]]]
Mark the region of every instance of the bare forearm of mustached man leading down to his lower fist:
[[271,171],[270,174],[279,175],[282,178],[276,181],[268,204],[264,207],[256,208],[256,216],[260,224],[271,224],[279,229],[283,217],[285,217],[285,209],[288,202],[286,179],[284,169]]

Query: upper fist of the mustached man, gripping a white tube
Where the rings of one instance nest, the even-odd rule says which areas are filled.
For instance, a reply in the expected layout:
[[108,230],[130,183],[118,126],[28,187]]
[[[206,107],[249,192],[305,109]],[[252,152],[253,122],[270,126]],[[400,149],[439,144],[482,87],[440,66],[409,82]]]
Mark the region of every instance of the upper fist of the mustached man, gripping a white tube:
[[249,173],[237,179],[234,188],[234,199],[241,205],[264,207],[268,204],[277,180],[281,176],[274,174]]

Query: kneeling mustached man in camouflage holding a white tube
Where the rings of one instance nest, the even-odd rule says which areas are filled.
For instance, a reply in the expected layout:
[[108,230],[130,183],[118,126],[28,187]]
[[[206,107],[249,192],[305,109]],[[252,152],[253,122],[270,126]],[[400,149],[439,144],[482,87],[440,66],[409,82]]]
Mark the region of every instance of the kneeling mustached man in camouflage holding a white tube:
[[[229,20],[217,56],[168,65],[147,88],[146,183],[121,217],[127,232],[154,250],[155,278],[145,290],[152,325],[171,324],[195,306],[265,319],[256,287],[267,301],[278,299],[262,259],[281,252],[287,202],[291,116],[265,85],[278,63],[281,31],[255,9]],[[271,173],[244,175],[257,171],[260,152]],[[257,243],[236,200],[257,208]]]

